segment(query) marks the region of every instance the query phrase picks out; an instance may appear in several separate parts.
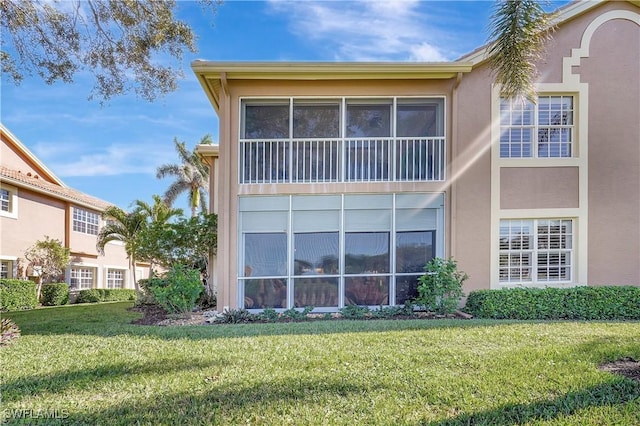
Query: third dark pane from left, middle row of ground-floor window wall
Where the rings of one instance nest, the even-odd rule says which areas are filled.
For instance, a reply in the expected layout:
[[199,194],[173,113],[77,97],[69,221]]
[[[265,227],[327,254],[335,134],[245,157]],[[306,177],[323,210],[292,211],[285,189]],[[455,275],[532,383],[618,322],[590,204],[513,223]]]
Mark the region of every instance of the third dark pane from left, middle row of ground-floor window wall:
[[388,232],[349,232],[344,236],[345,273],[389,272]]

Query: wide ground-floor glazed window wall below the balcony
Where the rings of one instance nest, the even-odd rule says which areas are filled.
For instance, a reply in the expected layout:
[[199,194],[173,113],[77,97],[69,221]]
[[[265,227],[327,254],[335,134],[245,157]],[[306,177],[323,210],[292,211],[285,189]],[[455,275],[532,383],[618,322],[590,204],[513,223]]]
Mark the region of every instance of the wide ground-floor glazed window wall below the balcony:
[[241,197],[242,306],[336,310],[350,304],[403,304],[415,297],[426,263],[442,256],[442,198]]

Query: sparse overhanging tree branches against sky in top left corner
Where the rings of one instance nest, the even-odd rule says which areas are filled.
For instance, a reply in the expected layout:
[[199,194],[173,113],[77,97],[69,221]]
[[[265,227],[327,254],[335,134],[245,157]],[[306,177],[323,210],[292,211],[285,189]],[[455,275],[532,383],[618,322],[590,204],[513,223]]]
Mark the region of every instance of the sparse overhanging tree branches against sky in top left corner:
[[[211,12],[220,3],[200,2]],[[88,71],[90,97],[134,91],[154,100],[176,90],[183,53],[197,51],[175,9],[175,0],[3,0],[2,72],[16,83],[36,73],[52,84]]]

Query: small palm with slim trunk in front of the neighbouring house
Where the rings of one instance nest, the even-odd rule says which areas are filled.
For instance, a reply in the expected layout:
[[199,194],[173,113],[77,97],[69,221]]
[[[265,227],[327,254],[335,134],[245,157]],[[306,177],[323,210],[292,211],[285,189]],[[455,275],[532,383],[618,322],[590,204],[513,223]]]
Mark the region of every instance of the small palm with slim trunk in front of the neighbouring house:
[[136,279],[136,260],[140,233],[146,226],[146,217],[139,211],[127,213],[120,207],[111,206],[102,213],[107,224],[100,229],[96,248],[104,255],[104,248],[110,241],[121,241],[129,259],[129,269],[132,272],[136,293],[140,296],[140,286]]

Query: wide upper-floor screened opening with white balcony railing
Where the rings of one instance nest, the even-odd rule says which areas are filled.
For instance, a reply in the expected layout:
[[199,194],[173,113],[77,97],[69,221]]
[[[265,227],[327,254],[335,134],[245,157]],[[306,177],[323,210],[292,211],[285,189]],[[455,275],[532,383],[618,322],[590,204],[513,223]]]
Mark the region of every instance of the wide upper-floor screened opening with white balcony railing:
[[240,183],[444,180],[443,98],[242,105]]

